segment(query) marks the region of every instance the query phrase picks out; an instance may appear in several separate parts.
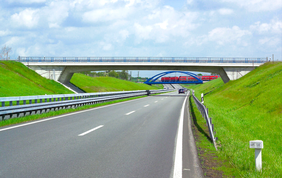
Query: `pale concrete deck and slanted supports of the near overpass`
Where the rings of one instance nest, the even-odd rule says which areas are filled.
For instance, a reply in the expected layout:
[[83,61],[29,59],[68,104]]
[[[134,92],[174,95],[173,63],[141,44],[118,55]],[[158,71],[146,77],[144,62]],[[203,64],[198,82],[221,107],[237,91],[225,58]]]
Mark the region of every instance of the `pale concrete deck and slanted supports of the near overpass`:
[[29,65],[43,77],[68,84],[74,73],[105,70],[167,70],[217,73],[224,83],[236,80],[262,63],[153,63],[153,62],[35,62]]

